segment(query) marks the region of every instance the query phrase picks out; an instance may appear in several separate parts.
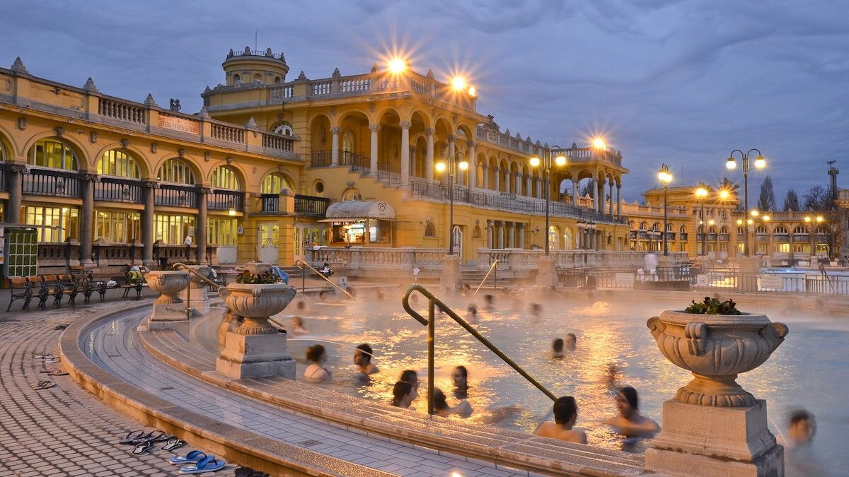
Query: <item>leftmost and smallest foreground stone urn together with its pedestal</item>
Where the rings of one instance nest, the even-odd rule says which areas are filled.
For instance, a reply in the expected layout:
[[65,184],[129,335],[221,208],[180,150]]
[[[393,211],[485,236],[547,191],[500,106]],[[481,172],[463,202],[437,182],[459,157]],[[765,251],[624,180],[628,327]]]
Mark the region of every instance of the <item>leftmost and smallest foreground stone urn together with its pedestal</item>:
[[145,275],[150,289],[160,296],[154,301],[154,311],[148,329],[174,329],[188,337],[188,316],[180,292],[188,287],[188,272],[157,271]]

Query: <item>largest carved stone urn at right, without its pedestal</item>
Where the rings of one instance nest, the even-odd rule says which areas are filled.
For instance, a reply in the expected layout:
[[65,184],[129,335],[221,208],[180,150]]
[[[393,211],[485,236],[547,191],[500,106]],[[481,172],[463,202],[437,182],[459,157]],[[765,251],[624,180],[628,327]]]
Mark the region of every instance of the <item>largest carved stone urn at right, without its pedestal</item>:
[[694,379],[675,399],[689,404],[745,407],[755,396],[735,379],[761,366],[784,341],[788,328],[766,315],[700,315],[664,311],[646,323],[663,356]]

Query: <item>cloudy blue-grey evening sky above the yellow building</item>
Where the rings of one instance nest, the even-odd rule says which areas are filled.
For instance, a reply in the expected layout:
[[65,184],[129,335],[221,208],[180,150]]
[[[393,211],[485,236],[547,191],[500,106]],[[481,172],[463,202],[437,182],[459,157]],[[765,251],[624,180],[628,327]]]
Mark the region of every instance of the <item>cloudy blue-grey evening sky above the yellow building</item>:
[[[3,5],[3,3],[6,3]],[[283,50],[294,79],[367,72],[393,48],[415,70],[469,72],[502,130],[621,149],[627,199],[675,182],[719,182],[732,149],[759,148],[779,205],[849,180],[849,2],[807,0],[357,0],[250,3],[0,0],[0,62],[159,104],[223,81],[229,48]],[[737,171],[739,175],[739,169]],[[761,182],[760,172],[750,182]],[[740,179],[741,180],[741,179]],[[755,193],[756,194],[756,191]],[[751,199],[754,203],[756,199]]]

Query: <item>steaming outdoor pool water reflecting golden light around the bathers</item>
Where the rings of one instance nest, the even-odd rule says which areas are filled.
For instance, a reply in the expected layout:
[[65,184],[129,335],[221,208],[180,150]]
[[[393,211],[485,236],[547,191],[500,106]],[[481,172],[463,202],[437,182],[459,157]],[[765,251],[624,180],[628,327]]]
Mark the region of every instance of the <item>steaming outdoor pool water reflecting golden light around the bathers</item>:
[[[389,299],[393,295],[395,298]],[[426,328],[402,311],[400,293],[387,293],[386,300],[365,296],[346,306],[310,304],[302,316],[310,334],[290,334],[289,346],[298,361],[298,379],[306,367],[304,353],[308,345],[321,343],[329,355],[328,368],[333,379],[321,384],[329,389],[388,402],[391,388],[401,372],[414,369],[422,386],[413,408],[426,412],[424,390],[427,379]],[[695,298],[695,296],[694,296]],[[578,404],[577,426],[585,429],[593,446],[621,448],[622,439],[604,425],[616,414],[613,389],[606,376],[610,365],[621,373],[616,385],[631,385],[639,391],[640,409],[661,422],[663,401],[675,395],[691,378],[657,350],[645,326],[646,319],[666,307],[649,303],[557,298],[543,302],[542,317],[531,315],[531,300],[496,299],[494,310],[486,311],[479,295],[476,300],[449,300],[454,310],[463,311],[469,302],[481,308],[477,329],[526,369],[555,395],[571,395]],[[424,299],[419,309],[426,316]],[[681,304],[681,307],[686,305]],[[767,399],[774,424],[773,433],[786,432],[790,411],[805,408],[818,420],[818,434],[808,462],[819,461],[823,469],[846,469],[849,455],[843,452],[849,435],[849,382],[845,369],[849,363],[849,322],[834,317],[803,315],[782,316],[766,311],[773,321],[787,323],[790,335],[761,368],[745,373],[739,383],[756,397]],[[288,315],[295,304],[284,311]],[[280,323],[289,323],[279,316]],[[565,358],[551,357],[551,341],[567,333],[577,336],[576,351]],[[360,379],[353,365],[353,347],[368,343],[374,348],[374,363],[380,373]],[[551,401],[521,378],[484,345],[467,334],[449,317],[441,315],[436,323],[436,387],[445,391],[448,404],[457,399],[451,392],[451,371],[456,365],[469,369],[469,402],[475,409],[472,422],[504,429],[533,432],[545,418]],[[778,429],[775,425],[778,425]],[[644,446],[633,451],[640,452]],[[818,469],[817,473],[828,472]]]

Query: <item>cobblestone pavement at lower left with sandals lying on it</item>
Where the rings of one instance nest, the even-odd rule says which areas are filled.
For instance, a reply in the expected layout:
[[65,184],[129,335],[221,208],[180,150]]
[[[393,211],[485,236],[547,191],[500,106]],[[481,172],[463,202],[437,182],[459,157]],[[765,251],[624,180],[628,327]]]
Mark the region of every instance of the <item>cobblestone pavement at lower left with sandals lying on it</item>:
[[[127,431],[143,429],[138,422],[101,403],[67,376],[39,373],[42,361],[33,357],[42,352],[57,354],[62,332],[54,327],[95,311],[126,306],[127,300],[119,297],[113,292],[105,303],[0,312],[0,475],[177,474],[177,466],[167,463],[173,453],[134,456],[131,446],[117,444]],[[56,386],[33,390],[31,386],[42,379]],[[233,466],[216,475],[233,475]]]

